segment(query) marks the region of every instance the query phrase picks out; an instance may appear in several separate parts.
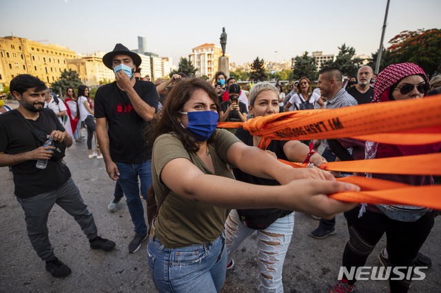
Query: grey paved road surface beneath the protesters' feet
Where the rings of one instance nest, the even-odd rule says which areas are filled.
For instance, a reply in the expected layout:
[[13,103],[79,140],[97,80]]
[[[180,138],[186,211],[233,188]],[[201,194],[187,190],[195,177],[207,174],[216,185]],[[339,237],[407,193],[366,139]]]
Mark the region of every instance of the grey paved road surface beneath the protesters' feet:
[[[85,133],[85,130],[83,130]],[[127,206],[119,205],[109,213],[114,182],[105,173],[103,160],[88,159],[85,143],[74,144],[67,151],[72,178],[94,214],[99,234],[116,242],[112,252],[91,250],[74,219],[54,206],[48,220],[55,253],[70,266],[72,274],[54,279],[30,246],[23,210],[13,195],[12,173],[0,168],[0,292],[156,292],[147,267],[146,243],[135,254],[127,252],[134,232]],[[318,221],[296,213],[294,236],[285,261],[285,292],[329,292],[337,279],[342,251],[348,239],[346,221],[337,217],[337,233],[327,239],[309,237]],[[441,287],[441,217],[435,219],[422,252],[431,257],[433,266],[424,281],[414,281],[409,292],[440,292]],[[377,255],[384,239],[371,254],[367,265],[378,265]],[[406,245],[406,243],[403,243]],[[245,241],[235,256],[235,268],[227,272],[222,292],[257,292],[256,237]],[[357,292],[389,292],[387,281],[358,281]],[[201,293],[201,292],[198,292]]]

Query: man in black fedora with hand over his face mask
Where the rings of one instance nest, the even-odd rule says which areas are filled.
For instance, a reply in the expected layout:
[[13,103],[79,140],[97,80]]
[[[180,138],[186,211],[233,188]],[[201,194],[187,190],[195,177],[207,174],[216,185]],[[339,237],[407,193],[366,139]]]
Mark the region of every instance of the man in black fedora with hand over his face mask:
[[153,83],[133,77],[141,65],[141,57],[124,45],[116,44],[112,52],[103,56],[103,63],[114,71],[115,81],[96,91],[96,134],[107,174],[118,180],[127,198],[135,231],[129,244],[129,252],[133,253],[147,238],[138,178],[141,195],[147,199],[152,184],[152,150],[146,149],[143,129],[154,117],[158,94]]

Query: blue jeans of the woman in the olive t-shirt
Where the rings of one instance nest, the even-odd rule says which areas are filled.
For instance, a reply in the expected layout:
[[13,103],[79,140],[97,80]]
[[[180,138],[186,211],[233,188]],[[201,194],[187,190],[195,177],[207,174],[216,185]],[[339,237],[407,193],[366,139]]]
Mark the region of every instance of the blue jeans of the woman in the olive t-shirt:
[[227,272],[225,235],[183,248],[166,248],[149,237],[147,259],[159,292],[219,292]]

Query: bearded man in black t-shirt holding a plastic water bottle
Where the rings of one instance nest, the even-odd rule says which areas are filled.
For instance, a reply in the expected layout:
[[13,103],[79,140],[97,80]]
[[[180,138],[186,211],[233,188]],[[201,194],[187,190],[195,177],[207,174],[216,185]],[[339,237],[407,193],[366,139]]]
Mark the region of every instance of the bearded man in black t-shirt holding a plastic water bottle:
[[[92,249],[110,251],[113,241],[98,237],[94,217],[88,211],[70,171],[61,160],[52,159],[53,146],[37,146],[31,129],[38,129],[49,139],[69,147],[72,138],[65,131],[54,111],[43,109],[45,83],[29,74],[20,74],[10,82],[10,91],[19,101],[17,110],[0,116],[0,166],[12,166],[14,194],[25,213],[28,237],[38,256],[46,261],[46,270],[61,278],[70,268],[54,254],[48,237],[48,215],[58,204],[74,217],[90,241]],[[47,160],[39,169],[37,160]]]

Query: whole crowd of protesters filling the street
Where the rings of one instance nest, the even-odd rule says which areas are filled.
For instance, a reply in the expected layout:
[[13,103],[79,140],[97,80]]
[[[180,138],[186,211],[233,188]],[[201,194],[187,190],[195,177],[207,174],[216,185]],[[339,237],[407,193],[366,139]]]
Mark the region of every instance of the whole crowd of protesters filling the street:
[[[216,126],[218,122],[245,122],[283,111],[423,98],[429,90],[439,92],[441,75],[429,80],[418,65],[402,63],[390,65],[371,83],[371,67],[362,66],[358,76],[351,76],[345,85],[340,69],[325,67],[316,90],[311,80],[302,77],[285,86],[252,81],[245,91],[224,72],[216,72],[208,81],[178,73],[153,83],[150,76],[141,77],[141,58],[121,44],[105,54],[103,63],[114,71],[116,81],[100,87],[94,101],[85,85],[68,87],[61,99],[38,78],[23,74],[14,78],[10,87],[19,101],[17,111],[0,103],[0,166],[12,167],[15,195],[25,212],[30,241],[52,276],[71,273],[55,257],[45,228],[54,203],[74,215],[91,248],[110,251],[115,243],[97,237],[93,216],[70,179],[70,171],[62,160],[52,161],[54,147],[36,149],[32,140],[19,134],[14,134],[19,146],[12,143],[15,136],[10,127],[14,121],[19,124],[21,116],[50,140],[65,146],[72,144],[72,138],[79,144],[84,141],[80,132],[84,124],[88,158],[103,159],[107,174],[116,181],[114,198],[107,208],[116,212],[126,197],[135,233],[128,252],[139,250],[147,239],[146,261],[159,292],[220,291],[227,270],[234,268],[235,251],[254,232],[259,290],[283,292],[283,263],[293,234],[294,210],[320,219],[318,228],[311,232],[316,239],[335,235],[335,215],[345,213],[349,239],[342,251],[342,265],[348,271],[365,265],[384,234],[387,247],[379,256],[382,265],[430,265],[429,257],[419,250],[433,227],[433,210],[400,206],[404,214],[394,218],[387,213],[388,206],[330,199],[327,194],[359,190],[337,182],[336,177],[359,174],[329,173],[320,166],[331,161],[437,153],[441,143],[402,146],[316,140],[311,142],[311,151],[309,141],[272,140],[263,151],[256,147],[260,137],[245,129],[228,131]],[[21,127],[27,131],[25,123]],[[322,153],[318,153],[320,144],[324,146]],[[306,159],[316,168],[294,169],[277,159]],[[36,160],[49,160],[50,164],[38,171]],[[22,186],[23,176],[31,173],[34,185],[28,193],[30,186]],[[38,182],[48,175],[56,176],[50,188]],[[416,186],[433,184],[431,176],[368,176]],[[147,200],[148,195],[158,202],[152,223],[145,221],[141,200]],[[38,208],[45,212],[36,213]],[[411,276],[399,281],[389,278],[391,292],[407,292]],[[329,290],[352,292],[355,281],[344,275]]]

